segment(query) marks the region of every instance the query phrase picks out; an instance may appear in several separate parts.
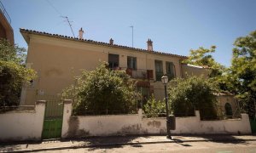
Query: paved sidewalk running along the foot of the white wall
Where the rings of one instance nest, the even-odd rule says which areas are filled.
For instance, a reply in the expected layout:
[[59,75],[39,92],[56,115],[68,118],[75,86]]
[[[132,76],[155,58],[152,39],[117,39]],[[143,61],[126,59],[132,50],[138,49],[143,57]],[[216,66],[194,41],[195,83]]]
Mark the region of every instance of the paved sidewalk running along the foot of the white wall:
[[43,150],[66,150],[76,148],[90,148],[100,146],[118,146],[135,144],[157,144],[157,143],[183,143],[215,141],[227,142],[236,141],[256,141],[254,135],[197,135],[197,136],[172,136],[172,139],[166,139],[166,136],[111,136],[111,137],[90,137],[85,139],[61,139],[48,140],[40,142],[18,142],[0,144],[0,152],[35,152]]

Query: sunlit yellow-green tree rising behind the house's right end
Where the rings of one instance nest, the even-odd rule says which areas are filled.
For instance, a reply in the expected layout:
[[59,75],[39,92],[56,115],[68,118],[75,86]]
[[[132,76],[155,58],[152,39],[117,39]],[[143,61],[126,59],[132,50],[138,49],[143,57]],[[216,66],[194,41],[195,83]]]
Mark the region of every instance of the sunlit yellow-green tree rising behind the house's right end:
[[209,77],[219,77],[224,71],[224,65],[220,65],[215,59],[212,58],[212,53],[215,53],[216,46],[212,46],[210,49],[198,48],[191,49],[189,58],[184,60],[183,63],[190,65],[207,65],[211,68],[211,73]]

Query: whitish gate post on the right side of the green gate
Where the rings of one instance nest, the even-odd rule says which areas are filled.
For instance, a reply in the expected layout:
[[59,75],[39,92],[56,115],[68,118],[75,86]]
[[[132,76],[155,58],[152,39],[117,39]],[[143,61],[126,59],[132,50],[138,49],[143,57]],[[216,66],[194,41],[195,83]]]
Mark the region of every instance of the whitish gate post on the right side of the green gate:
[[64,99],[64,109],[63,109],[63,121],[62,121],[62,132],[61,132],[61,139],[65,139],[67,136],[68,131],[68,121],[72,114],[72,100],[71,99]]

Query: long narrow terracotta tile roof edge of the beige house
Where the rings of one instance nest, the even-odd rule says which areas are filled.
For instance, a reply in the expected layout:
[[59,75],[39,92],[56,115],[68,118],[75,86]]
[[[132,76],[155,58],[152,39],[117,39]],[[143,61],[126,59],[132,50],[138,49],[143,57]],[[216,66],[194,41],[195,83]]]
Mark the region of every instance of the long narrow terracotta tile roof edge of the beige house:
[[58,35],[58,34],[51,34],[51,33],[44,32],[44,31],[43,32],[42,31],[32,31],[32,30],[20,28],[20,33],[36,34],[36,35],[42,35],[42,36],[47,36],[47,37],[57,37],[57,38],[61,38],[61,39],[67,39],[67,40],[73,40],[73,41],[79,41],[79,42],[89,42],[89,43],[96,44],[96,45],[103,45],[103,46],[108,46],[108,47],[113,47],[113,48],[125,48],[125,49],[140,51],[140,52],[147,51],[148,53],[163,54],[163,55],[174,56],[174,57],[178,57],[178,58],[182,58],[182,59],[187,59],[187,56],[183,56],[183,55],[169,54],[169,53],[164,53],[164,52],[160,52],[160,51],[148,51],[147,49],[143,49],[143,48],[131,48],[128,46],[110,44],[107,42],[96,42],[96,41],[93,41],[90,39],[79,39],[77,37],[67,37],[67,36]]

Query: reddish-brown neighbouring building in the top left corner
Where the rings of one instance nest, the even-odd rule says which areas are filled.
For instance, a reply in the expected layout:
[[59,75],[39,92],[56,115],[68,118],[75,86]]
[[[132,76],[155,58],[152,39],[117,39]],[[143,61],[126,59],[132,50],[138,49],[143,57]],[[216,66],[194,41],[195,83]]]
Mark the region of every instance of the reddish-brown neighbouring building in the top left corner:
[[3,3],[0,2],[0,38],[7,39],[11,44],[15,44],[14,31],[10,23],[9,14],[3,7]]

